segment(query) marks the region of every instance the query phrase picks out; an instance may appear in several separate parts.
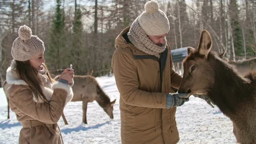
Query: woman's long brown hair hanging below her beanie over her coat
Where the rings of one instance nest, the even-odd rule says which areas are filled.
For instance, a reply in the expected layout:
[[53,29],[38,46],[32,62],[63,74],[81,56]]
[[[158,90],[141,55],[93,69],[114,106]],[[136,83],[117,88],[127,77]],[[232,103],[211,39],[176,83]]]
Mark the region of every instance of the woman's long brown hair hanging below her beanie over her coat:
[[[49,71],[44,63],[43,67],[46,69],[46,75],[48,76],[50,82],[53,83],[53,79],[49,75]],[[39,79],[38,71],[30,65],[30,61],[27,60],[21,62],[15,60],[15,68],[17,76],[29,85],[37,101],[39,98],[41,98],[43,101],[49,103],[49,101],[46,99],[46,96],[43,94],[43,90],[40,86],[42,85],[42,82]]]

